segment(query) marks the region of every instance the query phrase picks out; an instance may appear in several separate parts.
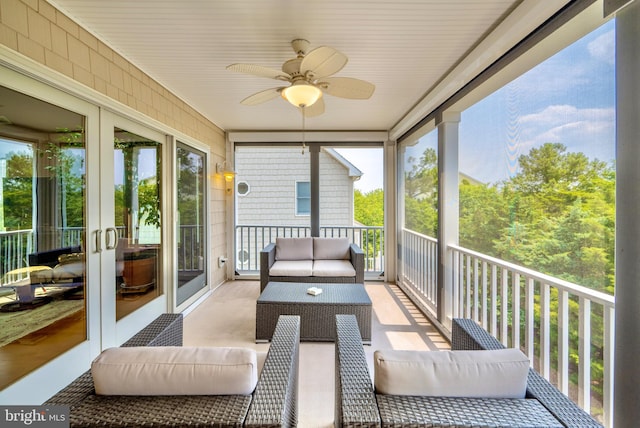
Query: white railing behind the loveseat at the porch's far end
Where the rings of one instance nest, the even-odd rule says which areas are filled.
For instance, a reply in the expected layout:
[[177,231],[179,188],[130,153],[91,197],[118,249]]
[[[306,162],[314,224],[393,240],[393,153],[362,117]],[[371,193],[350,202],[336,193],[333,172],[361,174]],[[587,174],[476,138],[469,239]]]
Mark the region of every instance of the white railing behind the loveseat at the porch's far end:
[[[278,237],[311,236],[308,226],[236,226],[236,271],[255,274],[260,271],[260,251]],[[382,226],[322,226],[321,237],[347,237],[364,251],[365,274],[384,270],[384,228]]]

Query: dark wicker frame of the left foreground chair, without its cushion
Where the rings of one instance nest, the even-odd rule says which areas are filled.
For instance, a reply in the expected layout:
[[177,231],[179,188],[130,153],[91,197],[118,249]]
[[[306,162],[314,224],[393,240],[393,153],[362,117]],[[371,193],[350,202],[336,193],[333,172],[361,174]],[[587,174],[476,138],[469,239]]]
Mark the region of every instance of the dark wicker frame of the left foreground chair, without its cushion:
[[[72,427],[295,427],[300,318],[282,316],[252,395],[98,396],[88,371],[45,404]],[[182,315],[164,314],[122,346],[182,346]]]

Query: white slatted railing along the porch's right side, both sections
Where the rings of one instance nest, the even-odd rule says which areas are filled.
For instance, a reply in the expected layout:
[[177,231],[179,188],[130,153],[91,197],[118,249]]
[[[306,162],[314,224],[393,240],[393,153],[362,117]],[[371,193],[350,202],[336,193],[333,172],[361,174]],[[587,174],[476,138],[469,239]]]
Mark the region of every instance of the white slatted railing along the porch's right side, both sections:
[[[437,241],[403,230],[401,280],[437,309]],[[614,297],[450,245],[450,313],[471,318],[605,426],[612,426]],[[444,320],[441,320],[444,321]],[[450,321],[450,320],[449,320]]]

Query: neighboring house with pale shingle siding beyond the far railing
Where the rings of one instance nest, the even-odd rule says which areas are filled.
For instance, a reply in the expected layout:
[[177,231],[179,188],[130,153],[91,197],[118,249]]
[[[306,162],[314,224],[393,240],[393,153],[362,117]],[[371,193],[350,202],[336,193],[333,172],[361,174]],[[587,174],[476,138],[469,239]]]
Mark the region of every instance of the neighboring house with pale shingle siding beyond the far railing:
[[[239,270],[257,269],[257,253],[264,245],[274,242],[276,236],[309,233],[309,157],[308,150],[301,154],[301,147],[236,148]],[[321,228],[354,225],[353,183],[361,176],[362,172],[335,150],[320,151]]]

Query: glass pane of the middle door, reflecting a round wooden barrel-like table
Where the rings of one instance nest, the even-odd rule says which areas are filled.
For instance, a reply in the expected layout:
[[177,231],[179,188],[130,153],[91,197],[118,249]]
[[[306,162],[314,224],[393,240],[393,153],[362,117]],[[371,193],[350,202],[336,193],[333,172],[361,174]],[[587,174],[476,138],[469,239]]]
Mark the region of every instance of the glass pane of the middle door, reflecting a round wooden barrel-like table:
[[161,144],[114,128],[116,320],[163,293]]

